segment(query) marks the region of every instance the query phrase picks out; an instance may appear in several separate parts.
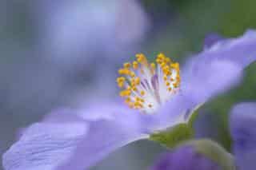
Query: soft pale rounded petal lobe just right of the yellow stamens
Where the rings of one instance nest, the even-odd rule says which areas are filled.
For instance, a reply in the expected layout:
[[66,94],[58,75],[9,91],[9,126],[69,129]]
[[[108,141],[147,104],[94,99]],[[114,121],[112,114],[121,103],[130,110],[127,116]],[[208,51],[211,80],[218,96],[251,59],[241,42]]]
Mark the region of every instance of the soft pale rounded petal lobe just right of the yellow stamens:
[[190,66],[190,75],[184,77],[182,92],[198,104],[237,85],[242,77],[242,68],[230,61],[199,61]]

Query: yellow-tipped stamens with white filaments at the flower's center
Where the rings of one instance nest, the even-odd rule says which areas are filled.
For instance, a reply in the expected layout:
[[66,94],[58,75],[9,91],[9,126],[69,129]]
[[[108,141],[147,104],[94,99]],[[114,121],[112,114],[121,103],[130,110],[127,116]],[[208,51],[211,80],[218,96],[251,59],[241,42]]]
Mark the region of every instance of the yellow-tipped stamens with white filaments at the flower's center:
[[155,113],[179,89],[179,64],[162,53],[158,54],[156,63],[149,63],[142,53],[138,53],[136,58],[118,70],[121,75],[117,78],[120,96],[132,109]]

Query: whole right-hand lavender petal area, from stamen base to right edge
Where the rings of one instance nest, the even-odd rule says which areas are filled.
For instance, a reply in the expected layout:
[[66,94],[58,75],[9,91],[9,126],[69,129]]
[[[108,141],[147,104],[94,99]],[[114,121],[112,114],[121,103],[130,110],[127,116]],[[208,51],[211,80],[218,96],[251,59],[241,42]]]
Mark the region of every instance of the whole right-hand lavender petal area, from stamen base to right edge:
[[172,97],[152,118],[155,129],[186,122],[198,105],[237,85],[242,69],[256,59],[255,31],[247,31],[240,38],[216,41],[212,41],[208,49],[192,57],[184,66],[178,95]]

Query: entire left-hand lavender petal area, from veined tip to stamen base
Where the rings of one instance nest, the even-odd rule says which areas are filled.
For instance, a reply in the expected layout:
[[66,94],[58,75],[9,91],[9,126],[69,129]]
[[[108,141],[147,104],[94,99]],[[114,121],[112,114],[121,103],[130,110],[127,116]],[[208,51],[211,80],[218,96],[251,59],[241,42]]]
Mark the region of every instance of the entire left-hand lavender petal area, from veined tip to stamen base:
[[145,137],[138,114],[126,107],[98,105],[70,114],[74,117],[58,111],[22,132],[4,154],[4,168],[85,169],[114,149]]

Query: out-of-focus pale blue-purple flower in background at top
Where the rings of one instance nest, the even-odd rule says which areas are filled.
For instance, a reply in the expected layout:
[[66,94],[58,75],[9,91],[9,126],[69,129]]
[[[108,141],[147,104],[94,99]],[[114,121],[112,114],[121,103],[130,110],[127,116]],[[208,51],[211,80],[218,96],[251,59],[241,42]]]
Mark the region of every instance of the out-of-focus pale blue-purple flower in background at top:
[[38,22],[39,48],[69,69],[91,69],[95,58],[104,64],[118,61],[134,50],[148,26],[134,0],[36,0],[31,10]]

